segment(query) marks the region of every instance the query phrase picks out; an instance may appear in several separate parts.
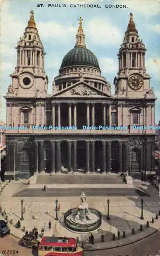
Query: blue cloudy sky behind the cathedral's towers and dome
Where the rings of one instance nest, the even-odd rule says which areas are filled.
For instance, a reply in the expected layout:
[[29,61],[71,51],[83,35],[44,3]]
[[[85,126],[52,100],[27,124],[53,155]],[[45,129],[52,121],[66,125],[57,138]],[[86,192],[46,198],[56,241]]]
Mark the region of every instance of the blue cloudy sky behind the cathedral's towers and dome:
[[[129,13],[146,46],[146,69],[155,97],[155,122],[160,120],[160,0],[0,0],[1,4],[1,116],[6,121],[6,100],[17,62],[16,45],[34,11],[35,22],[44,46],[48,94],[54,77],[59,74],[63,57],[74,48],[78,18],[83,18],[86,46],[97,57],[101,75],[111,83],[118,72],[118,51],[129,22]],[[44,7],[37,7],[43,4]],[[49,4],[66,7],[48,7]],[[70,4],[98,4],[101,8],[71,8]],[[105,8],[105,5],[127,5],[127,8]]]

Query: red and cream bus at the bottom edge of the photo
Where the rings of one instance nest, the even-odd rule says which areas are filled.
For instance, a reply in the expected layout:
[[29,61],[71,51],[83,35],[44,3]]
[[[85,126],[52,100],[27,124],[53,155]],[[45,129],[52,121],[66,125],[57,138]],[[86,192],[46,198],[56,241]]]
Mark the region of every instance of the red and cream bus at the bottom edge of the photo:
[[38,246],[38,256],[83,256],[75,238],[44,237]]

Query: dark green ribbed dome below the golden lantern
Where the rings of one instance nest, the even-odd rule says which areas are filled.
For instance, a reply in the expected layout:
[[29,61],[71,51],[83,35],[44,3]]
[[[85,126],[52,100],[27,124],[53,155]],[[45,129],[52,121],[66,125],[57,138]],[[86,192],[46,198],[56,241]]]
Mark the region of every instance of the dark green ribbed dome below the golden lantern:
[[75,46],[69,51],[63,58],[60,69],[76,65],[91,66],[100,70],[96,56],[85,47]]

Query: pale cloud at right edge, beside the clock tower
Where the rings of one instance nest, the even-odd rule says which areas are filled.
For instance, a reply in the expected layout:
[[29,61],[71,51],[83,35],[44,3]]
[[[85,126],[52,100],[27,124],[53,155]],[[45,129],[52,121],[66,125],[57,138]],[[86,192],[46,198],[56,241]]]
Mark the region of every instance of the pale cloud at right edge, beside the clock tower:
[[146,60],[147,72],[157,80],[160,80],[160,57]]

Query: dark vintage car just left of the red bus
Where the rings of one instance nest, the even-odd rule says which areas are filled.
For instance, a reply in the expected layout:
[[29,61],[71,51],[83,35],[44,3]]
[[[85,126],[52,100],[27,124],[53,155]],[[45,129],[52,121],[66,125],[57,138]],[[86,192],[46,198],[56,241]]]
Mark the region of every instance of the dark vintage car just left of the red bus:
[[32,234],[25,234],[19,242],[19,245],[29,247],[32,249],[37,249],[39,245],[39,241],[35,239],[35,237]]

